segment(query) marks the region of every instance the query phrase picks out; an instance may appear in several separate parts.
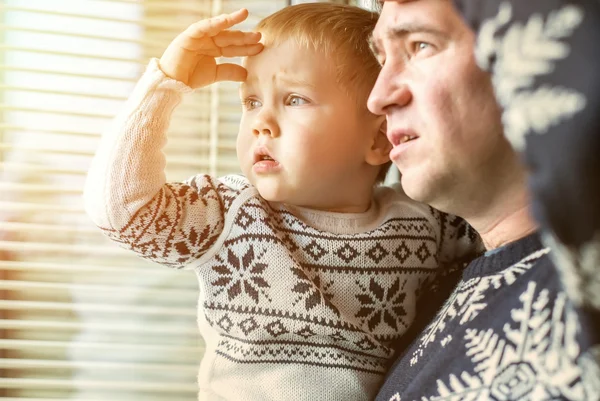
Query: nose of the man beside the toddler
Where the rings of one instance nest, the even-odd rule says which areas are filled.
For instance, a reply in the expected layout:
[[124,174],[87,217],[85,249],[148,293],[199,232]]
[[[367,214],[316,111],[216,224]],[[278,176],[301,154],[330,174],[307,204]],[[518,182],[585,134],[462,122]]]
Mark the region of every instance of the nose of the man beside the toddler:
[[385,115],[393,106],[405,107],[412,100],[410,88],[402,81],[400,72],[386,67],[381,69],[367,100],[369,111],[377,115]]

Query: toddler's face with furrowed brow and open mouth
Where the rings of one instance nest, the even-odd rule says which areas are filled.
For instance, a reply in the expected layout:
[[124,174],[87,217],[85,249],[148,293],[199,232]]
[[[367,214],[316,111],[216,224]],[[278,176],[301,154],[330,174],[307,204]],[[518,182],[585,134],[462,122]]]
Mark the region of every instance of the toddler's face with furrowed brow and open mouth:
[[237,139],[242,172],[269,201],[323,210],[352,202],[368,132],[381,121],[359,111],[337,84],[333,58],[287,41],[245,66]]

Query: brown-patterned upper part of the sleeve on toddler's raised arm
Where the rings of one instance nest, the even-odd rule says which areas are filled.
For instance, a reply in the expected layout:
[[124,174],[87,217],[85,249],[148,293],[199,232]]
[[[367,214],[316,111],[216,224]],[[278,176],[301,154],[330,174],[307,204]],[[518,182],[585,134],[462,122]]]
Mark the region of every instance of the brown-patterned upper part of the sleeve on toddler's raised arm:
[[100,229],[139,256],[183,268],[221,235],[228,206],[239,191],[209,176],[168,183],[119,227]]

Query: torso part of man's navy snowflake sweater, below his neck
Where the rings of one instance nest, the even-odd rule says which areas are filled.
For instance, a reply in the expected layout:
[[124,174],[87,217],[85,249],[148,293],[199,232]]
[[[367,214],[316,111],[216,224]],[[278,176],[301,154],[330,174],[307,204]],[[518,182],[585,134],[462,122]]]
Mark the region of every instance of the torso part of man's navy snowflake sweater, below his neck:
[[597,316],[570,302],[550,253],[533,234],[472,262],[377,399],[600,399]]

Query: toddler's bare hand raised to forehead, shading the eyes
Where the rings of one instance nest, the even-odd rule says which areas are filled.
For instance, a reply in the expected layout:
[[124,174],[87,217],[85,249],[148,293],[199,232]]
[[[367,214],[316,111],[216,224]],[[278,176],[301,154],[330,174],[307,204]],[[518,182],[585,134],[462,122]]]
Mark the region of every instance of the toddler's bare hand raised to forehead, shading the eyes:
[[246,69],[237,64],[217,64],[216,57],[242,57],[260,53],[258,32],[228,31],[248,17],[248,10],[198,21],[169,44],[160,58],[163,72],[191,88],[218,81],[244,81]]

